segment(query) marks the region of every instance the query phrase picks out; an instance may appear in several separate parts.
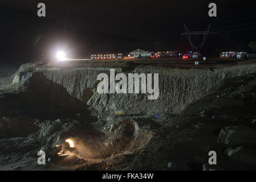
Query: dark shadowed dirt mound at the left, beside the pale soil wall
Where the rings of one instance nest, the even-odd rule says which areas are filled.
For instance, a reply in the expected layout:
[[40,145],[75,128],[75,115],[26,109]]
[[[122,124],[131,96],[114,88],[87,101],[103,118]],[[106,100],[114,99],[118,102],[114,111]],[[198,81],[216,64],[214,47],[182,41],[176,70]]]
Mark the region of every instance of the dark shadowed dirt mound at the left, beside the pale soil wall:
[[58,119],[76,118],[76,114],[82,113],[90,117],[86,104],[70,96],[62,85],[48,80],[42,72],[33,73],[18,93],[4,94],[0,101],[3,116]]

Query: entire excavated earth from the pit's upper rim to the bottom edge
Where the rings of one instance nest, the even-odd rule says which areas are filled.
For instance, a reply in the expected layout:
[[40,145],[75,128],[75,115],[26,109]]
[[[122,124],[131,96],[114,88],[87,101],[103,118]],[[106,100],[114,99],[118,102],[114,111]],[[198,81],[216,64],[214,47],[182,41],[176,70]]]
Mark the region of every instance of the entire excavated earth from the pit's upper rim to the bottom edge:
[[[226,126],[234,127],[235,132],[246,127],[244,130],[252,133],[250,138],[256,132],[256,76],[251,65],[198,73],[161,71],[160,82],[169,85],[161,85],[160,101],[149,105],[129,96],[131,102],[126,106],[124,97],[120,109],[129,110],[136,102],[140,106],[133,105],[133,110],[148,110],[119,116],[113,113],[119,96],[109,96],[109,102],[87,102],[88,89],[95,82],[88,76],[88,84],[82,87],[83,75],[92,75],[91,70],[76,73],[73,68],[23,67],[12,82],[1,87],[0,169],[202,170],[207,168],[203,165],[208,163],[210,150],[217,152],[220,169],[255,169],[251,163],[237,160],[242,156],[245,161],[254,161],[254,145],[217,142]],[[102,108],[105,111],[101,112]],[[239,137],[246,138],[246,132],[241,132]],[[66,155],[56,155],[56,145],[66,139],[72,139],[75,148],[64,151]],[[45,166],[37,164],[41,147],[50,158]],[[248,152],[250,155],[245,155]]]

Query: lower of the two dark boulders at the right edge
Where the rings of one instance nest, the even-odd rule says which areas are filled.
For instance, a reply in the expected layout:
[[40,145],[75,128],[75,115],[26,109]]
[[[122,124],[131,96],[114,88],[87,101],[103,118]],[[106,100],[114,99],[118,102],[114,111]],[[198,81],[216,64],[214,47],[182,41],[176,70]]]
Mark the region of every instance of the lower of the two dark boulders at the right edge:
[[256,151],[247,147],[227,148],[225,154],[229,156],[229,160],[234,164],[242,164],[246,166],[256,166]]

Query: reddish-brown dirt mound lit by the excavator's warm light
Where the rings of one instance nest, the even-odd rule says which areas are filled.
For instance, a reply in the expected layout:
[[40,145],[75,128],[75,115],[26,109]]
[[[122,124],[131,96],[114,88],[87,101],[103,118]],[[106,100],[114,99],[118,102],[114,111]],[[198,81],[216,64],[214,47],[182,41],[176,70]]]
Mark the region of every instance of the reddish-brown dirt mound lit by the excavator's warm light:
[[147,145],[152,133],[139,129],[136,121],[124,120],[112,125],[101,137],[88,136],[79,141],[79,155],[103,159],[120,154],[132,154]]

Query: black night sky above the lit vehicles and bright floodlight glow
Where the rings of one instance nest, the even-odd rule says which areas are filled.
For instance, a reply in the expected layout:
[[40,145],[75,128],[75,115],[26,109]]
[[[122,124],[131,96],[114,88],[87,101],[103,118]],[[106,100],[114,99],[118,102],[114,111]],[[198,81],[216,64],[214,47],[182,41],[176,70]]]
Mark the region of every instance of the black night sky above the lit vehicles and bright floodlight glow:
[[[37,16],[39,2],[46,4],[46,17]],[[217,4],[217,18],[208,16],[210,2]],[[256,24],[253,1],[137,0],[137,1],[5,1],[0,2],[1,61],[24,62],[64,49],[81,58],[91,53],[190,49],[181,37],[184,23],[191,31],[222,29],[210,35],[202,51],[245,49],[255,29],[227,32]],[[216,32],[216,31],[214,31]],[[37,40],[37,41],[36,41]],[[195,42],[200,42],[200,37]]]

